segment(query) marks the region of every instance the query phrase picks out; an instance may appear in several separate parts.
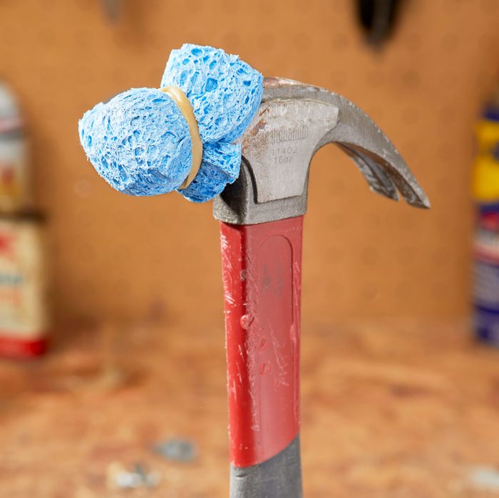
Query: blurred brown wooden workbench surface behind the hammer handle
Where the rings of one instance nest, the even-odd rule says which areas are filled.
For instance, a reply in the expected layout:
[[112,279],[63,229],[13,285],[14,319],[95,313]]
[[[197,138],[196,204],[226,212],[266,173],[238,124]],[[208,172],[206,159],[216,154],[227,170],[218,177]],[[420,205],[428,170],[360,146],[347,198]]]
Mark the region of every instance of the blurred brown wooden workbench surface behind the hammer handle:
[[[0,497],[227,497],[223,345],[222,329],[88,326],[1,362]],[[151,450],[169,437],[197,459]],[[307,498],[497,496],[499,351],[463,323],[305,326],[302,459]],[[109,482],[136,463],[160,484]]]

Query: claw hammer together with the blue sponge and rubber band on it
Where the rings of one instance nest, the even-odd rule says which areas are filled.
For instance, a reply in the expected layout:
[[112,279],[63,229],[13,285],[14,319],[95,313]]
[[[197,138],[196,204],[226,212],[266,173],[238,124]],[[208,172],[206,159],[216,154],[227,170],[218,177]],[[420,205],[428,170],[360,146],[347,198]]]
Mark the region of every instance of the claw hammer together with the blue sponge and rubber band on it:
[[375,192],[391,199],[401,192],[416,207],[429,207],[428,199],[386,135],[341,95],[278,78],[262,85],[237,57],[192,45],[172,52],[162,86],[96,105],[80,122],[81,143],[120,192],[215,198],[230,496],[302,497],[299,341],[310,161],[334,142]]

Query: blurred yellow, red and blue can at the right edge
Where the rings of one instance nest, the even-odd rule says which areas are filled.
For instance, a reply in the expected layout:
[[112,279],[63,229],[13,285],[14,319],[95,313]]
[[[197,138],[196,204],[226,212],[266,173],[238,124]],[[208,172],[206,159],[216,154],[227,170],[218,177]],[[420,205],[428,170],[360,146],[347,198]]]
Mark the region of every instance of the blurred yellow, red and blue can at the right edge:
[[476,134],[474,328],[478,338],[499,346],[499,88],[486,105]]

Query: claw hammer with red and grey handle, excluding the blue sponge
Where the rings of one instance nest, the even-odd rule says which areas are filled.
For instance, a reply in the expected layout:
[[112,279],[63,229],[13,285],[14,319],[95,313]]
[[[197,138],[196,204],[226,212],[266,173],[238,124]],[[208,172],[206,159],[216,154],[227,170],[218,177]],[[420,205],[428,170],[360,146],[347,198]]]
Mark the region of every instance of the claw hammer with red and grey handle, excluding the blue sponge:
[[239,178],[217,197],[225,286],[232,498],[302,497],[299,343],[309,165],[336,143],[369,187],[430,206],[401,155],[353,103],[265,78],[242,140]]

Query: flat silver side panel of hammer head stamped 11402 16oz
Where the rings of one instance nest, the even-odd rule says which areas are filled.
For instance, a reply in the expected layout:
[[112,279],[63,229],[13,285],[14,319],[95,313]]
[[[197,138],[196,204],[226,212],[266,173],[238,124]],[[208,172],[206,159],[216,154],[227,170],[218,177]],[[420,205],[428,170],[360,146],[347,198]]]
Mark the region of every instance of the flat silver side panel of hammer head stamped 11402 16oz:
[[257,202],[301,196],[309,162],[339,110],[317,100],[271,100],[260,106],[242,142]]

